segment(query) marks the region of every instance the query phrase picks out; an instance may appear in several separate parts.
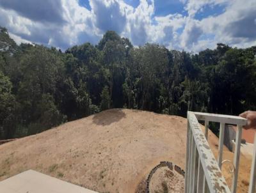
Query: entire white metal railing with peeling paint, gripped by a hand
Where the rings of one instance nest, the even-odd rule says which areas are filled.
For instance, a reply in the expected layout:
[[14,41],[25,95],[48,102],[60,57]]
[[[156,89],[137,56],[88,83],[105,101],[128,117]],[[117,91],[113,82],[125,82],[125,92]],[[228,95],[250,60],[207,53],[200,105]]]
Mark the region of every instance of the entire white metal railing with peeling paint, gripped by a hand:
[[[205,133],[202,132],[198,120],[205,121]],[[218,145],[218,160],[215,159],[209,143],[208,128],[209,122],[220,123],[220,137]],[[188,111],[188,132],[186,148],[186,174],[185,174],[185,193],[190,192],[232,192],[237,190],[237,176],[239,170],[240,146],[242,127],[247,120],[239,116],[228,116],[222,114],[210,114],[204,112]],[[237,125],[236,150],[234,154],[234,173],[232,178],[231,190],[223,174],[221,164],[223,163],[223,139],[225,124]],[[225,160],[224,160],[225,161]],[[256,134],[253,150],[253,160],[250,176],[249,192],[255,192],[256,179]]]

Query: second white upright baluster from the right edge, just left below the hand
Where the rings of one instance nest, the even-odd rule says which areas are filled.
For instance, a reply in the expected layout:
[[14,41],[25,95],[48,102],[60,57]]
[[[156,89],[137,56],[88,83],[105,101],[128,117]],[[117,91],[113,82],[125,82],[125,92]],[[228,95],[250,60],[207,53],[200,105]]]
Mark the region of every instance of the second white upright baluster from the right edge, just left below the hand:
[[242,135],[242,126],[237,125],[237,131],[236,131],[236,150],[234,155],[234,176],[232,180],[232,187],[231,192],[236,193],[236,187],[237,187],[237,175],[238,175],[238,169],[239,169],[239,158],[240,158],[240,147],[241,147],[241,135]]

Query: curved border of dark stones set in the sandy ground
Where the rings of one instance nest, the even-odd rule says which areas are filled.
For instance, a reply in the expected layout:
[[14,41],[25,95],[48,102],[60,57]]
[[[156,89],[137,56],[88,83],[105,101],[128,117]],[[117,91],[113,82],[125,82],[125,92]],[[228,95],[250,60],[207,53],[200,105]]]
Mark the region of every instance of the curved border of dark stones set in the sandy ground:
[[[148,178],[146,180],[146,193],[149,193],[149,183],[150,183],[150,180],[153,176],[154,173],[156,173],[156,170],[160,167],[168,167],[170,170],[173,170],[173,163],[172,162],[166,162],[166,161],[163,161],[163,162],[160,162],[160,164],[158,164],[157,166],[155,166],[151,171],[150,173],[148,174]],[[180,175],[182,175],[183,177],[185,177],[185,171],[183,169],[181,169],[179,166],[175,165],[174,164],[174,169],[175,171],[177,171],[177,173],[179,173]]]

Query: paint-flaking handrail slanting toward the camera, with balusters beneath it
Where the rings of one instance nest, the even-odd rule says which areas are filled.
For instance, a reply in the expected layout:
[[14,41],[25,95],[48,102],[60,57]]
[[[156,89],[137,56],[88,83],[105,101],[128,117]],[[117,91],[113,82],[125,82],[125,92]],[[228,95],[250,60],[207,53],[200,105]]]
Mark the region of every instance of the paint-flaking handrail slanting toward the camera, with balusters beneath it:
[[[187,152],[186,158],[185,192],[198,190],[200,186],[198,183],[202,183],[199,179],[204,179],[200,174],[204,174],[206,179],[205,183],[207,183],[209,192],[230,192],[209,143],[200,128],[195,113],[188,111],[188,132],[190,132],[190,130],[193,137],[188,137],[189,139],[187,139],[187,150],[191,147],[191,151],[189,153]],[[197,159],[196,156],[193,155],[194,152],[198,152],[199,157],[197,157]],[[189,166],[191,168],[189,168]],[[202,166],[201,169],[204,170],[204,173],[200,171],[200,166]],[[196,172],[197,169],[198,171]],[[195,181],[195,178],[197,178],[197,181]],[[192,185],[192,187],[189,184]],[[204,189],[207,189],[207,187],[204,187]]]

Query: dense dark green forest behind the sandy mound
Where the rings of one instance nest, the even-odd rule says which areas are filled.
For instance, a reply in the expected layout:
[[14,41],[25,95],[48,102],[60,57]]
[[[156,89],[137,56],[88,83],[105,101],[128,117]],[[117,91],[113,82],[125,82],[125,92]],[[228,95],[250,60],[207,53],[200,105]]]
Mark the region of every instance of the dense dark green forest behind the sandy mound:
[[256,47],[197,54],[108,31],[65,52],[17,45],[0,28],[0,139],[36,134],[109,108],[186,116],[256,109]]

